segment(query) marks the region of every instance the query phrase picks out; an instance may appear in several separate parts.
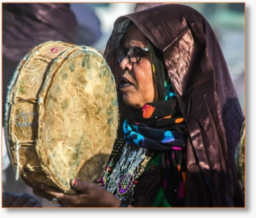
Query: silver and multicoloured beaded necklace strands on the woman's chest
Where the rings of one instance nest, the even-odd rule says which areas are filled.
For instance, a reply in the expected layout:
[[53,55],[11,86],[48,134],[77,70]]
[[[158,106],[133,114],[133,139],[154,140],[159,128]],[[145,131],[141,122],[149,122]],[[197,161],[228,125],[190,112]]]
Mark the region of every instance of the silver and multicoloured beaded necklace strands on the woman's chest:
[[[118,142],[123,143],[123,141]],[[115,155],[107,163],[99,185],[118,199],[131,204],[134,201],[134,188],[138,184],[138,177],[152,158],[152,152],[143,147],[125,143],[116,164],[114,161],[118,150],[114,150],[113,153]]]

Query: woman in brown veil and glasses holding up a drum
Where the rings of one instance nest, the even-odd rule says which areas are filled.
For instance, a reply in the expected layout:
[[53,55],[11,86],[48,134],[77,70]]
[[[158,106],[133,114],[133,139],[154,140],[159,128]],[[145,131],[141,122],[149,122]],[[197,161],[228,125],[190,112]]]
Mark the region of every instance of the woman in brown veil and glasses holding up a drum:
[[183,5],[119,17],[105,58],[120,128],[102,178],[72,179],[75,195],[34,193],[71,207],[244,206],[234,157],[244,116],[205,18]]

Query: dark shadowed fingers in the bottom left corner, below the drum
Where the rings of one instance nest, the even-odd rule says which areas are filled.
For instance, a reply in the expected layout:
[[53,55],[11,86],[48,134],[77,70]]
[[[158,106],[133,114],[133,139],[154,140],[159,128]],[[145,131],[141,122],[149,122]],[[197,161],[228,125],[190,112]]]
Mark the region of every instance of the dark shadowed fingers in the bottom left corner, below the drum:
[[42,204],[37,198],[28,193],[3,192],[3,207],[42,207]]

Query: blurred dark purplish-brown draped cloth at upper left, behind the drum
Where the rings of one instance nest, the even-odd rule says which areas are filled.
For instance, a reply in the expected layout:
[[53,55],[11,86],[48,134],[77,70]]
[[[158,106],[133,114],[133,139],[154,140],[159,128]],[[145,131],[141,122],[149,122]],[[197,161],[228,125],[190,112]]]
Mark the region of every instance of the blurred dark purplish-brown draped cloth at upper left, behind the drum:
[[50,40],[73,42],[76,35],[69,4],[3,3],[3,107],[15,68],[31,48]]

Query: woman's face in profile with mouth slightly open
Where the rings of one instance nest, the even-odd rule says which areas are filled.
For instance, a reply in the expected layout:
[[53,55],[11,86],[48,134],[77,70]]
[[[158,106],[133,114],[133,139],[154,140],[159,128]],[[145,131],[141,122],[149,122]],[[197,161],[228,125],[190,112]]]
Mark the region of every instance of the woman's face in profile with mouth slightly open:
[[[135,25],[127,31],[123,48],[131,46],[147,48],[145,36]],[[151,66],[150,53],[143,53],[138,63],[129,61],[127,55],[120,62],[122,80],[119,89],[123,95],[123,102],[134,109],[143,107],[144,104],[154,101],[156,91]]]

